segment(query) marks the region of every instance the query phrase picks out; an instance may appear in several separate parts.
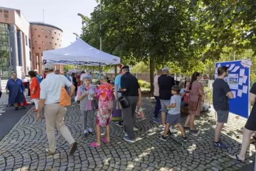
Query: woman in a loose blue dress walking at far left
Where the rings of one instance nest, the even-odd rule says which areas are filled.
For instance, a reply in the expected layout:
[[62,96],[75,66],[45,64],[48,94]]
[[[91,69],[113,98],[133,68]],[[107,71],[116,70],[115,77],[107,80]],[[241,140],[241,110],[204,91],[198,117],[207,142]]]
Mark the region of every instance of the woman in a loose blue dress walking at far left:
[[21,79],[17,78],[17,73],[12,73],[12,78],[7,81],[6,84],[6,94],[9,95],[8,105],[14,105],[15,110],[18,110],[18,104],[21,108],[25,109],[23,106],[25,86]]

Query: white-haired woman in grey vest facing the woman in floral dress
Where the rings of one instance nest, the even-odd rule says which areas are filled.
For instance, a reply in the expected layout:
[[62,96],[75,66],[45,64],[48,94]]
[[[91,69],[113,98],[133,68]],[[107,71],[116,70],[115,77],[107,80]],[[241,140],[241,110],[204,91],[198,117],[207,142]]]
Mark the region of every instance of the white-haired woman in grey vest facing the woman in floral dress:
[[90,84],[90,76],[84,76],[82,82],[83,84],[78,88],[78,100],[80,100],[80,110],[84,117],[84,136],[88,136],[88,133],[95,134],[92,129],[93,118],[95,117],[95,110],[93,110],[92,101],[93,98],[95,98],[97,88]]

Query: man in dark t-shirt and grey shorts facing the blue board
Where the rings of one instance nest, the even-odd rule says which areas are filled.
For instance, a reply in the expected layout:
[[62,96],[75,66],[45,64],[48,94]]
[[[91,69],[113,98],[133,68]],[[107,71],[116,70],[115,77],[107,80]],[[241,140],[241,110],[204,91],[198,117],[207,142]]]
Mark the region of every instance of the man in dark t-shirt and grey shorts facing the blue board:
[[223,129],[224,123],[227,123],[229,114],[229,102],[228,98],[233,99],[234,95],[230,90],[224,78],[228,76],[228,67],[220,66],[218,68],[218,78],[214,81],[212,101],[214,109],[217,112],[218,123],[215,128],[215,139],[212,142],[212,146],[219,148],[227,148],[227,145],[219,141],[220,132]]

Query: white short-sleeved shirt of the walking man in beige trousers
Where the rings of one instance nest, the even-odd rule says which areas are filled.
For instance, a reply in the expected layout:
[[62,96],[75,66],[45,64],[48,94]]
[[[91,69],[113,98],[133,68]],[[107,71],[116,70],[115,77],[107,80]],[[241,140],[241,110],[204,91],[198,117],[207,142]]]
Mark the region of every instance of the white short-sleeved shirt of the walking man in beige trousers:
[[50,73],[40,84],[40,99],[46,99],[45,104],[55,104],[61,98],[62,86],[70,87],[72,83],[64,75]]

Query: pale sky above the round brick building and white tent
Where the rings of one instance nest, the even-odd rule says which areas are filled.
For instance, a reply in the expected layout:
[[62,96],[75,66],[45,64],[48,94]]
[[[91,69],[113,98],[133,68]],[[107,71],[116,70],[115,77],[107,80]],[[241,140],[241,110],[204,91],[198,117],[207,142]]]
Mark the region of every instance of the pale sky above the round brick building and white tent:
[[0,0],[3,7],[21,10],[28,21],[43,21],[42,10],[45,11],[45,23],[55,25],[63,30],[63,47],[75,41],[73,32],[80,35],[81,13],[90,16],[97,6],[96,0]]

